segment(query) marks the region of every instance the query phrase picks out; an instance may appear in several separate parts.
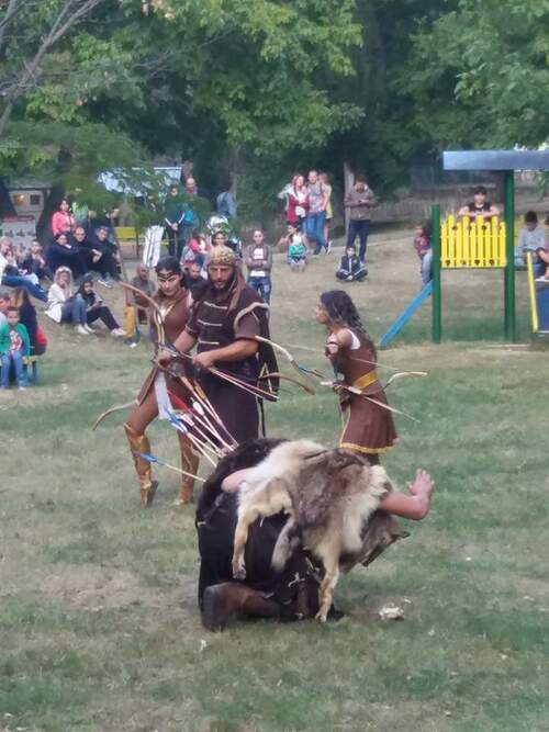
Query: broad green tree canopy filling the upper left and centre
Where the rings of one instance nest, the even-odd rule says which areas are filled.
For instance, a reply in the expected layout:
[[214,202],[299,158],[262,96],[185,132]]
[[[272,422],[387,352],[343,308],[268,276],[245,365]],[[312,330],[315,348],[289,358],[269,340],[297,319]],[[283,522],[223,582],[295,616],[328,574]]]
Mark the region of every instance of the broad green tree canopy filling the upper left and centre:
[[[354,0],[23,4],[11,16],[3,56],[11,123],[4,122],[0,161],[8,169],[59,178],[77,165],[91,176],[107,156],[89,143],[104,135],[110,166],[122,165],[135,140],[137,154],[193,158],[213,190],[227,172],[233,181],[267,172],[272,190],[360,119],[352,101],[334,101],[323,85],[328,72],[354,72],[348,52],[360,43]],[[85,4],[88,16],[58,35],[63,10]],[[27,43],[15,44],[18,34]],[[240,190],[251,194],[248,209],[264,203],[253,182]]]

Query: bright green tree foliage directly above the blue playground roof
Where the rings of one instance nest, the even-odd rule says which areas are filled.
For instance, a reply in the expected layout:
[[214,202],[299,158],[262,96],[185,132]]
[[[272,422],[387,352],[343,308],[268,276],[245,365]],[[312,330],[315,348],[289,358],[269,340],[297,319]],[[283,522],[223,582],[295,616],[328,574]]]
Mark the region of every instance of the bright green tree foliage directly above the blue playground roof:
[[547,0],[459,0],[421,27],[401,79],[419,134],[436,148],[547,142],[548,27]]

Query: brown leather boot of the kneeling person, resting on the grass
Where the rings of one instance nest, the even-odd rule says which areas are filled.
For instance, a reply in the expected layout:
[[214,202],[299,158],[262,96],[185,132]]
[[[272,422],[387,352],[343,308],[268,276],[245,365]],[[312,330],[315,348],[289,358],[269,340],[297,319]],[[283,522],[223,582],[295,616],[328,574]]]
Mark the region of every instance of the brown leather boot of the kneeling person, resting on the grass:
[[280,608],[260,592],[238,582],[211,585],[204,590],[201,619],[206,630],[224,630],[231,618],[238,615],[254,618],[278,618]]

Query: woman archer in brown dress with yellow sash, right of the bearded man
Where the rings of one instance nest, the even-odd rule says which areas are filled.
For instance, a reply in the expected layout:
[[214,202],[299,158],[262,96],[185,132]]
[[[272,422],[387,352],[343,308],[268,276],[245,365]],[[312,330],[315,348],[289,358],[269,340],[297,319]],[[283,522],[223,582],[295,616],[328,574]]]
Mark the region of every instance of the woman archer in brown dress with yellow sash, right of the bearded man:
[[[376,371],[377,351],[355,303],[343,290],[321,295],[316,320],[327,330],[325,352],[343,383],[336,386],[346,412],[339,447],[367,455],[371,463],[396,442],[396,430]],[[360,390],[350,392],[346,386]],[[370,398],[365,398],[370,397]],[[373,401],[370,401],[373,399]]]

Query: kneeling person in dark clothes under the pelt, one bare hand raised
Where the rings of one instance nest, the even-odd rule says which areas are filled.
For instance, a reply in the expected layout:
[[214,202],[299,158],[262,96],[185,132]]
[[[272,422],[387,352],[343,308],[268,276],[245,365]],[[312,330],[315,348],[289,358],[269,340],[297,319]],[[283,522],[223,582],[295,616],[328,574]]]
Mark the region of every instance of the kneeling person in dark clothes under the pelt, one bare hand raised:
[[[197,509],[200,577],[199,607],[208,630],[223,630],[237,616],[281,621],[312,619],[318,611],[322,568],[304,548],[299,548],[281,573],[271,565],[272,551],[288,521],[281,511],[259,517],[246,542],[246,581],[233,578],[232,558],[237,520],[237,491],[249,469],[260,463],[283,440],[243,442],[223,458],[204,484]],[[388,491],[363,528],[362,548],[346,556],[345,565],[369,565],[390,544],[405,538],[395,516],[421,520],[427,516],[435,483],[423,470],[408,484],[408,493]],[[341,617],[332,608],[328,619]]]

